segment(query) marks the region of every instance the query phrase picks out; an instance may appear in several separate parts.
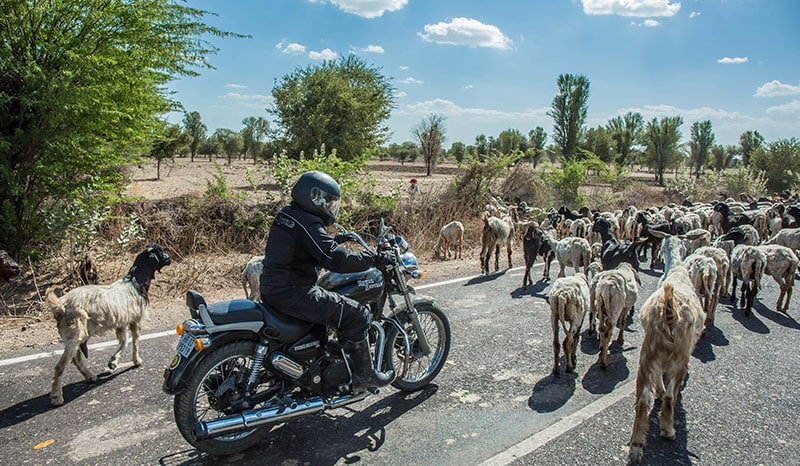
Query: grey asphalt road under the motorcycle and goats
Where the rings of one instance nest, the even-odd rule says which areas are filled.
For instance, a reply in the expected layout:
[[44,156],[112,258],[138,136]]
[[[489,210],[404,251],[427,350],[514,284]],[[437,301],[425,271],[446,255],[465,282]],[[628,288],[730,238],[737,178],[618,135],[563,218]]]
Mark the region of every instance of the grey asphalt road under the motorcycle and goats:
[[[658,276],[645,265],[637,310]],[[349,407],[275,426],[260,445],[227,458],[198,453],[175,427],[172,398],[161,392],[175,335],[151,334],[142,342],[143,367],[132,367],[127,349],[117,372],[95,384],[69,366],[59,408],[49,406],[48,395],[57,355],[0,354],[0,463],[624,464],[638,315],[623,347],[612,347],[607,370],[597,363],[596,335],[584,331],[576,373],[556,379],[548,284],[522,289],[521,283],[517,268],[418,284],[419,294],[448,312],[453,330],[447,365],[433,384],[416,393],[384,389]],[[722,299],[716,327],[690,362],[676,409],[677,438],[659,438],[654,410],[643,464],[800,464],[800,298],[792,297],[786,316],[772,310],[777,292],[765,277],[749,317]],[[102,372],[111,351],[90,346],[90,367]]]

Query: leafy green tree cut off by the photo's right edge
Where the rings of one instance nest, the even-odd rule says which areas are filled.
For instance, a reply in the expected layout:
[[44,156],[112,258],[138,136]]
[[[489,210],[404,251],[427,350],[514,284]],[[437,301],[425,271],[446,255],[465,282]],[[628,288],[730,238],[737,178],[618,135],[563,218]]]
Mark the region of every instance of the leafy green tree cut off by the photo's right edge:
[[770,192],[796,189],[800,182],[800,140],[791,138],[771,142],[766,150],[754,151],[750,163],[766,174],[766,187]]

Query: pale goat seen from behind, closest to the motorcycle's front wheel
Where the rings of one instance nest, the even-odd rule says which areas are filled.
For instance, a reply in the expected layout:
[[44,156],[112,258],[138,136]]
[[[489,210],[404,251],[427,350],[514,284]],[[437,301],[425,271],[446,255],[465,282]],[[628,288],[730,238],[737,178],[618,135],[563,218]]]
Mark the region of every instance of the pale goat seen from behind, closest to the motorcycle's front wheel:
[[558,327],[564,329],[565,372],[575,369],[577,364],[578,338],[583,325],[583,316],[589,309],[589,285],[586,275],[579,273],[561,277],[550,288],[550,322],[553,327],[553,375],[558,377]]

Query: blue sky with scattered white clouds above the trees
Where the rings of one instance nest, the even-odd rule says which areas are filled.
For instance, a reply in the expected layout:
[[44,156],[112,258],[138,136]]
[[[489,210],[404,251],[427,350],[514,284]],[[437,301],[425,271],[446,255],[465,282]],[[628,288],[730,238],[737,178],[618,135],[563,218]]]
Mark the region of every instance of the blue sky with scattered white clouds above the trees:
[[[645,121],[711,120],[716,142],[758,130],[800,137],[798,0],[188,0],[219,39],[214,70],[173,82],[209,133],[262,116],[297,68],[355,53],[397,88],[391,142],[443,115],[445,147],[541,126],[563,73],[590,81],[587,126],[629,111]],[[179,123],[181,116],[169,120]],[[275,127],[274,123],[271,123]],[[552,140],[548,139],[548,143]]]

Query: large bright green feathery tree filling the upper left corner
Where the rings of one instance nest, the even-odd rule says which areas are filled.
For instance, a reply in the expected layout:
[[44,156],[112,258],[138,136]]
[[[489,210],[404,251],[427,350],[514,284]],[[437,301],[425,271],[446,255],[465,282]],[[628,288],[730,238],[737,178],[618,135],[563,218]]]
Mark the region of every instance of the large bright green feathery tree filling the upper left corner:
[[[166,84],[210,68],[231,36],[168,0],[3,1],[0,21],[0,248],[60,245],[75,202],[92,215],[147,151]],[[239,36],[241,37],[241,36]],[[58,217],[58,222],[52,221]]]

